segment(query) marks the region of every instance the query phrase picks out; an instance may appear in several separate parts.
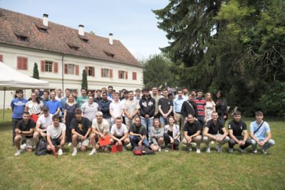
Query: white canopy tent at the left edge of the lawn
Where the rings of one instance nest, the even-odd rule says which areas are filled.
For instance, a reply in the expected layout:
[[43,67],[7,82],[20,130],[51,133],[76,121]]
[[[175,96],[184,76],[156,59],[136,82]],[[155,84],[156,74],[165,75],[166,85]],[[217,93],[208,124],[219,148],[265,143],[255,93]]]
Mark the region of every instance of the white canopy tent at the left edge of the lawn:
[[23,73],[20,73],[8,65],[5,65],[0,61],[0,90],[4,90],[4,107],[3,107],[3,121],[5,114],[5,96],[6,90],[17,89],[32,89],[32,88],[48,88],[48,82],[44,80],[38,80],[31,78]]

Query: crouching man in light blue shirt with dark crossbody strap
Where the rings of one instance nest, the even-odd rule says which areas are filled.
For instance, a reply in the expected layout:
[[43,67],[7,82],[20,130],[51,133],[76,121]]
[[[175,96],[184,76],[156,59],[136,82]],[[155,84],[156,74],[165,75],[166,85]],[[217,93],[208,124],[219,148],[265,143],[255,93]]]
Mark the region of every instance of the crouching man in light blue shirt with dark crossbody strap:
[[[269,149],[275,144],[274,139],[271,139],[271,130],[269,124],[263,120],[263,112],[255,112],[255,120],[250,124],[250,137],[252,137],[252,148],[254,154],[257,153],[257,144],[261,147],[261,152],[267,154],[266,149]],[[266,135],[267,134],[267,135]]]

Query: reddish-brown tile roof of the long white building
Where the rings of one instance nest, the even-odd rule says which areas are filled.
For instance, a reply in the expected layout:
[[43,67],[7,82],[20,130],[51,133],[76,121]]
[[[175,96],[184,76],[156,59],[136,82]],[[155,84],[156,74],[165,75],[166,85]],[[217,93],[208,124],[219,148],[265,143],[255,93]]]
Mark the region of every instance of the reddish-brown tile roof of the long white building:
[[[142,67],[118,40],[111,46],[109,38],[86,32],[79,36],[77,29],[51,21],[46,27],[42,19],[6,9],[0,9],[0,26],[0,43]],[[20,41],[17,36],[27,36],[28,41]]]

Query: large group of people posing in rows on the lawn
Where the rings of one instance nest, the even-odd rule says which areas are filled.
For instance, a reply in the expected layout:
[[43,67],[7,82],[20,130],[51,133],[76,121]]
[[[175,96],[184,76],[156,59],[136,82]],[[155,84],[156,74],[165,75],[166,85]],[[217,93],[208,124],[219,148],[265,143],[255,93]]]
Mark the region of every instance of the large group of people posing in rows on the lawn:
[[[80,96],[76,90],[66,89],[64,97],[62,93],[58,88],[43,90],[40,95],[40,90],[35,89],[26,100],[23,90],[16,90],[11,101],[15,156],[24,149],[32,152],[40,139],[47,142],[46,149],[53,154],[62,155],[64,146],[72,146],[72,156],[78,148],[86,152],[89,146],[90,155],[98,149],[109,152],[112,144],[128,149],[145,146],[155,152],[164,148],[169,152],[178,150],[182,142],[188,151],[195,148],[197,154],[201,153],[202,143],[207,153],[211,152],[211,144],[219,153],[224,144],[228,144],[229,153],[238,144],[239,152],[252,145],[254,153],[261,147],[263,154],[275,144],[261,111],[255,112],[256,120],[249,132],[239,111],[234,112],[226,128],[227,101],[220,91],[215,98],[211,93],[204,98],[202,90],[189,93],[183,88],[173,95],[157,87],[116,92],[108,86],[95,93],[82,88]],[[103,144],[107,139],[110,143]]]

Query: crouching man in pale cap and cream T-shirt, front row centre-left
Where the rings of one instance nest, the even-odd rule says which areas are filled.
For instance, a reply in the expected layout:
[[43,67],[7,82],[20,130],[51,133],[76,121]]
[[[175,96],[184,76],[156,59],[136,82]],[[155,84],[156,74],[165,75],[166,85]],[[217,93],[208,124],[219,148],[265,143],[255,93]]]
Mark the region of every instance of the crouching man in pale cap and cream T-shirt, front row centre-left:
[[[96,118],[92,122],[92,133],[90,134],[93,149],[89,155],[96,153],[96,142],[98,142],[98,138],[101,137],[104,139],[104,137],[108,135],[110,131],[109,122],[103,119],[103,112],[96,112],[95,116]],[[103,147],[103,149],[104,151],[107,151],[108,146]]]

